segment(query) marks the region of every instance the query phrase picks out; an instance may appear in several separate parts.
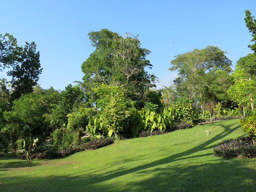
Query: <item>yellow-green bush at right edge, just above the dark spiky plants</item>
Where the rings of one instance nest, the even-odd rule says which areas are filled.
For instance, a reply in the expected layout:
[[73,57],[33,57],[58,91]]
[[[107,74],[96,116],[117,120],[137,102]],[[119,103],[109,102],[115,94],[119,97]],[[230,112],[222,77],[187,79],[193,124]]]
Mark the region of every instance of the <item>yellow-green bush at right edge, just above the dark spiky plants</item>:
[[242,130],[249,134],[251,138],[256,139],[256,114],[247,116],[240,120]]

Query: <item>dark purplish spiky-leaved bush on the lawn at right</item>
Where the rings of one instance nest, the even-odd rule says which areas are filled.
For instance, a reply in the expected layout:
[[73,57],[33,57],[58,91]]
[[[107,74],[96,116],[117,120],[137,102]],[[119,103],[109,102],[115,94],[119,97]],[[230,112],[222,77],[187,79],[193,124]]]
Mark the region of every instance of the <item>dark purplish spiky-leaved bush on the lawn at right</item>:
[[253,157],[256,156],[256,145],[251,137],[225,139],[215,145],[213,154],[220,157]]

